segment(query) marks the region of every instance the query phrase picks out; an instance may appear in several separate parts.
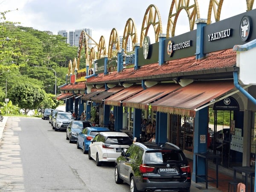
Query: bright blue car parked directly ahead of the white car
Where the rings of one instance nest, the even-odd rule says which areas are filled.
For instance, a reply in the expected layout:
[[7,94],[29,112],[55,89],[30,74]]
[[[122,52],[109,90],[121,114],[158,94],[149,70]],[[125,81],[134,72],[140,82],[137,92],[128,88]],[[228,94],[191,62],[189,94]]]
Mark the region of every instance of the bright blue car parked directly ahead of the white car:
[[111,131],[106,127],[86,127],[81,131],[77,137],[76,147],[82,148],[84,154],[87,154],[89,151],[89,145],[91,140],[95,137],[99,132]]

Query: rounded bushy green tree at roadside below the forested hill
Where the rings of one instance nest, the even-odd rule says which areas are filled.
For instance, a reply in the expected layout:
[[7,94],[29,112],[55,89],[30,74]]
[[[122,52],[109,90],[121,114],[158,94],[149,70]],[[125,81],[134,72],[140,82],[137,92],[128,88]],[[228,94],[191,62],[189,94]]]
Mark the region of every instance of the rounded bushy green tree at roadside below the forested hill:
[[27,114],[30,110],[40,108],[44,100],[44,90],[33,84],[16,84],[8,92],[9,98]]

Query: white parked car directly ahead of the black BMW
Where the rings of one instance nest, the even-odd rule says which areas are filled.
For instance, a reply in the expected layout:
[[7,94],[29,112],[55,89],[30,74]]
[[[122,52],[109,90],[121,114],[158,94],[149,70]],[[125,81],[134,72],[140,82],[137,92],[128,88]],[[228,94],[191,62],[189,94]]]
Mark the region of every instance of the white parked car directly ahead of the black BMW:
[[122,132],[108,131],[97,134],[89,145],[88,158],[96,160],[96,165],[102,162],[115,162],[124,148],[132,144],[130,137]]

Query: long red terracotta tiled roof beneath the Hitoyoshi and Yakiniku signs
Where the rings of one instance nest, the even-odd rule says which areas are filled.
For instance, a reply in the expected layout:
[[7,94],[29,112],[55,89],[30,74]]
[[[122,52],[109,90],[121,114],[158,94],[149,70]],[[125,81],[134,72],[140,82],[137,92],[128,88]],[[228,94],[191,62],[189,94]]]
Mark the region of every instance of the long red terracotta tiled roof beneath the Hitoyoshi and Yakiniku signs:
[[[194,72],[197,74],[214,74],[217,71],[225,73],[227,68],[236,66],[236,51],[233,49],[226,49],[218,52],[212,52],[206,55],[204,59],[196,61],[195,56],[188,58],[181,58],[173,61],[167,61],[163,65],[150,64],[140,67],[139,70],[134,68],[124,69],[122,72],[116,71],[108,75],[99,74],[98,76],[87,79],[87,84],[93,83],[111,83],[117,81],[140,81],[142,79],[161,79],[163,76],[188,76]],[[196,73],[195,73],[196,72]]]

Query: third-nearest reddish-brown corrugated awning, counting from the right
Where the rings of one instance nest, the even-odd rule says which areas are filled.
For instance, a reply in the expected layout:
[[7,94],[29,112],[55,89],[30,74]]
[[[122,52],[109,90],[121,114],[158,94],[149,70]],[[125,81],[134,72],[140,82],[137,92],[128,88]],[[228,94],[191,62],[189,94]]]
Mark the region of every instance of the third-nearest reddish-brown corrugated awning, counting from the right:
[[105,105],[114,105],[120,107],[123,100],[128,99],[142,90],[143,88],[141,85],[132,85],[131,87],[125,88],[113,96],[110,96],[108,99],[105,99],[104,103]]

